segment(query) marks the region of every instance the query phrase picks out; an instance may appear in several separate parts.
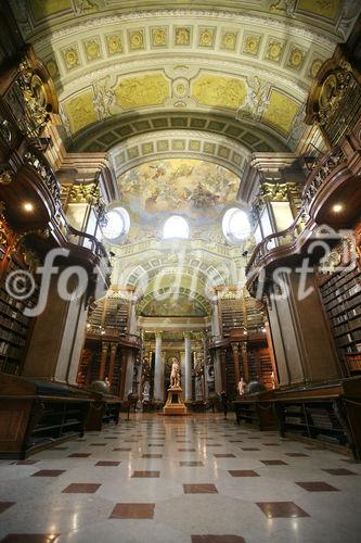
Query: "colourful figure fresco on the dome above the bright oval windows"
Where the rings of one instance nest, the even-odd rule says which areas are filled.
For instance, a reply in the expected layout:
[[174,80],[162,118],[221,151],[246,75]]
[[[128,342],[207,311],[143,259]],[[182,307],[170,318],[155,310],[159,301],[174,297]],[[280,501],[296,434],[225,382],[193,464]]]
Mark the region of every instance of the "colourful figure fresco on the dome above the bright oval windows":
[[212,226],[224,206],[235,201],[240,178],[218,164],[169,159],[128,171],[118,186],[136,223],[159,228],[169,215],[179,214],[199,229]]

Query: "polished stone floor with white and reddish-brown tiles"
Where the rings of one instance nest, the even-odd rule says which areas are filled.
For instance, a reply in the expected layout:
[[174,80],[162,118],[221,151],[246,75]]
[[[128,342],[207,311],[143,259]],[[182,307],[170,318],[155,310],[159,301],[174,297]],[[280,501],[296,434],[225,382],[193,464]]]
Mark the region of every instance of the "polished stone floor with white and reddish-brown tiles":
[[0,541],[357,543],[360,476],[347,456],[232,415],[133,415],[1,460]]

